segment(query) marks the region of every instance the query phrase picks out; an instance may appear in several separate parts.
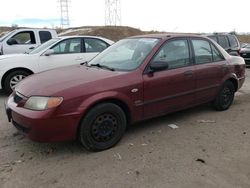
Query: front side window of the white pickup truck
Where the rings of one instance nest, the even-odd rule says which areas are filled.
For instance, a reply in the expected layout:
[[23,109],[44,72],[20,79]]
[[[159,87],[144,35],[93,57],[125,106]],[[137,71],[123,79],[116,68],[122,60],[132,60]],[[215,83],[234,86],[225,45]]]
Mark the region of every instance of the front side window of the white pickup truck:
[[23,31],[15,34],[12,38],[13,44],[36,44],[36,39],[33,31]]

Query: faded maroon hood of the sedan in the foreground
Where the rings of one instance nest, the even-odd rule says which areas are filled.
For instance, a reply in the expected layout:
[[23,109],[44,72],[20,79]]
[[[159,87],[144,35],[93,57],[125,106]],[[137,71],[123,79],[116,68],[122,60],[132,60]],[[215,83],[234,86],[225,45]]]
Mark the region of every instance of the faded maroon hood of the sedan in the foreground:
[[[94,88],[96,82],[116,77],[124,72],[109,71],[85,65],[53,69],[29,76],[16,86],[16,91],[26,97],[62,96]],[[88,87],[85,87],[88,85]],[[91,87],[89,87],[91,85]]]

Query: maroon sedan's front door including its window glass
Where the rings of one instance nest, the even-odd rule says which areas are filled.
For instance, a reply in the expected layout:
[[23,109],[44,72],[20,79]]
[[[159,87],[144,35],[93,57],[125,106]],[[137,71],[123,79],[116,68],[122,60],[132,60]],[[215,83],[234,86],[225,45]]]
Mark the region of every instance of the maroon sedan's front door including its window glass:
[[167,69],[143,75],[145,118],[181,109],[195,100],[194,67],[188,40],[167,41],[150,64],[162,61],[168,63]]

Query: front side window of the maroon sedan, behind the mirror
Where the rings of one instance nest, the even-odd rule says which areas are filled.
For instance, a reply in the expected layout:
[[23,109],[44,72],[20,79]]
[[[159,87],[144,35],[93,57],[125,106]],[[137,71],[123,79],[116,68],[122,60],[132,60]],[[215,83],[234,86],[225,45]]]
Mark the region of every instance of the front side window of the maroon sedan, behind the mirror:
[[168,69],[184,67],[190,64],[187,40],[173,40],[164,44],[152,63],[167,62]]

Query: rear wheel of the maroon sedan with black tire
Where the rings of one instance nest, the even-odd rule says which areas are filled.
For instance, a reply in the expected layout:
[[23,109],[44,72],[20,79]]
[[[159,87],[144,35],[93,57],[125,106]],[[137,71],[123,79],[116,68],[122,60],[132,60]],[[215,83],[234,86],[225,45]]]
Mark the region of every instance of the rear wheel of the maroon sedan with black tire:
[[234,84],[226,81],[213,101],[214,108],[218,111],[227,110],[234,100],[234,93]]

